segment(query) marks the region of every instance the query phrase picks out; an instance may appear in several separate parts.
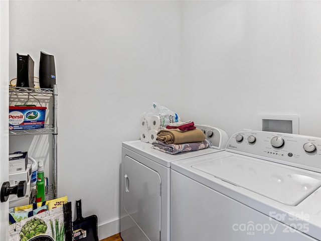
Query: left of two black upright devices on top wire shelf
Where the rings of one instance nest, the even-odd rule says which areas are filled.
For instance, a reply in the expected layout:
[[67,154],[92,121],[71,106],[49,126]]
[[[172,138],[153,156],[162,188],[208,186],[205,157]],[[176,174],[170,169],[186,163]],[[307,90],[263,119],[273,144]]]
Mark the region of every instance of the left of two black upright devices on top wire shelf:
[[17,54],[17,87],[35,87],[34,66],[35,62],[29,54]]

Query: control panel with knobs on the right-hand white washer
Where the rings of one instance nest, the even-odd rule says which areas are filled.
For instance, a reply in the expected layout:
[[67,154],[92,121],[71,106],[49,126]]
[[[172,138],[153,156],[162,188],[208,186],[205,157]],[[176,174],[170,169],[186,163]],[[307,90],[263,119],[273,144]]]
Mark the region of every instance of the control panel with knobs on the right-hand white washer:
[[318,137],[243,131],[229,139],[226,151],[321,173],[321,138]]

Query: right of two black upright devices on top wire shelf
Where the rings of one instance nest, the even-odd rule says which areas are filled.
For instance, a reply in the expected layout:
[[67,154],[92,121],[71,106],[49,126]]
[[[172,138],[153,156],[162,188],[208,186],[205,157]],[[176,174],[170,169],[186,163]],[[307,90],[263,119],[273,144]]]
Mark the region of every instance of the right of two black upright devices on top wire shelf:
[[53,88],[56,84],[55,57],[43,51],[40,52],[39,86],[40,88]]

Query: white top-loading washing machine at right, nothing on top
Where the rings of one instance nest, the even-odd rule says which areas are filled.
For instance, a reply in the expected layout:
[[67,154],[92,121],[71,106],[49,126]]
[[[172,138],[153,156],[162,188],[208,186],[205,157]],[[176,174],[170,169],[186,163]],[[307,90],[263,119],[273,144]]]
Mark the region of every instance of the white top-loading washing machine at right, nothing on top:
[[321,138],[245,131],[172,163],[172,240],[321,240]]

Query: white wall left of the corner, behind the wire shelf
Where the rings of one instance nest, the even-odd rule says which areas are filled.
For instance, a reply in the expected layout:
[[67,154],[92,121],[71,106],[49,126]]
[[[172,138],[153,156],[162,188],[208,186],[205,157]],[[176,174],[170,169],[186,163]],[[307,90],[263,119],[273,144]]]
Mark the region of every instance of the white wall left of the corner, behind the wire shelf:
[[36,76],[40,51],[55,56],[58,196],[82,199],[100,239],[118,231],[121,142],[139,139],[140,114],[153,101],[179,109],[180,5],[10,1],[10,78],[16,53],[32,56]]

